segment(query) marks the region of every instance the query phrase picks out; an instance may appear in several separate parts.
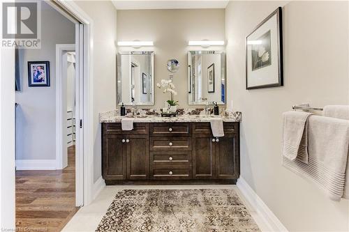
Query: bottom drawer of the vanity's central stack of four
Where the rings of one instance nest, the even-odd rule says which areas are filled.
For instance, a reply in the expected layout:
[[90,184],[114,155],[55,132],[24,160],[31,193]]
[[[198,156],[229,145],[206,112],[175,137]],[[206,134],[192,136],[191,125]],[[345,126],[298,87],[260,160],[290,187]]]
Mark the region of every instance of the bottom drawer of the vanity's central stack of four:
[[176,167],[176,166],[165,166],[155,167],[151,173],[152,179],[161,180],[176,180],[176,179],[190,179],[191,178],[191,167]]

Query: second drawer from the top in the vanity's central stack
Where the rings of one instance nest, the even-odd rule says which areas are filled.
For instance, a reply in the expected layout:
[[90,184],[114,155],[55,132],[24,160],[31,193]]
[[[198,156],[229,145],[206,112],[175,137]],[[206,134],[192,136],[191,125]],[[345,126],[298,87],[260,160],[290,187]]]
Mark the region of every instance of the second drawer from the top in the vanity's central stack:
[[191,150],[191,137],[151,137],[150,150]]

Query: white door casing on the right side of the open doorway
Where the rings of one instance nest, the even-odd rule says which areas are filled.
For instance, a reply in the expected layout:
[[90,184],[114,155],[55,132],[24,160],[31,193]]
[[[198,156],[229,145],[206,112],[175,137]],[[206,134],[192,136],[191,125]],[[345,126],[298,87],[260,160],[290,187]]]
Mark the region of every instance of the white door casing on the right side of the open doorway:
[[[76,161],[77,165],[80,166],[80,168],[78,168],[80,170],[78,173],[75,171],[75,173],[77,173],[77,180],[82,180],[79,186],[83,190],[82,199],[78,199],[77,196],[76,201],[81,202],[80,206],[86,206],[89,205],[94,198],[94,22],[74,1],[55,0],[49,2],[61,13],[65,15],[68,13],[68,16],[79,21],[83,28],[83,39],[80,40],[82,42],[79,47],[77,47],[77,49],[81,49],[80,52],[83,53],[83,61],[79,62],[82,65],[76,68],[76,70],[79,69],[83,77],[83,89],[81,90],[82,93],[80,93],[83,98],[83,111],[82,114],[80,114],[80,118],[75,118],[75,120],[79,122],[77,124],[80,124],[80,121],[82,122],[82,127],[76,127],[77,137],[78,134],[80,134],[78,130],[80,130],[82,134],[82,143],[80,143],[80,148],[75,149],[75,152],[80,153],[79,160]],[[59,7],[57,7],[57,5]],[[77,50],[75,50],[75,52],[77,52]]]

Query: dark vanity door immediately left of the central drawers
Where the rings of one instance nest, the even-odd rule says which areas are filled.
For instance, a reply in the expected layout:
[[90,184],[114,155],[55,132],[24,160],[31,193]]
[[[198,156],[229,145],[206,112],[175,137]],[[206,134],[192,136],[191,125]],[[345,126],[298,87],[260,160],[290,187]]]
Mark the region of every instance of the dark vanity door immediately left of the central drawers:
[[126,140],[127,179],[149,178],[149,137],[129,134]]

